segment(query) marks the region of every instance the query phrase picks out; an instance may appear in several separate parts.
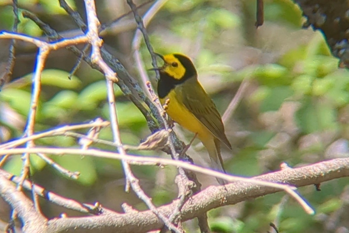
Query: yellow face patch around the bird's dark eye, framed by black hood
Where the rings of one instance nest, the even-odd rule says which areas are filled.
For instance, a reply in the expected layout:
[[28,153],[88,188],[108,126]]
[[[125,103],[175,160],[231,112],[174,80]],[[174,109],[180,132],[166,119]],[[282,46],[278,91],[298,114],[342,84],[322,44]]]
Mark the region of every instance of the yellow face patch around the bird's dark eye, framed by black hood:
[[162,72],[167,73],[175,79],[181,79],[184,77],[185,68],[183,64],[181,64],[180,61],[173,56],[173,54],[163,56],[163,60],[165,64],[161,69]]

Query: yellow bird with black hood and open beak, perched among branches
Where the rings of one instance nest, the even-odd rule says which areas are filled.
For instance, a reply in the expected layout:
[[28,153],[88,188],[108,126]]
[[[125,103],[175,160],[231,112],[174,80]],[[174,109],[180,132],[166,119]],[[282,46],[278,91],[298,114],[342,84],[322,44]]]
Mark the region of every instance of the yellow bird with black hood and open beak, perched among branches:
[[[185,129],[196,133],[207,148],[211,167],[225,172],[220,142],[230,149],[231,145],[225,136],[221,115],[202,88],[192,61],[178,53],[156,55],[164,61],[162,67],[152,70],[160,73],[157,92],[162,104],[169,100],[167,114]],[[225,184],[222,179],[217,181]]]

